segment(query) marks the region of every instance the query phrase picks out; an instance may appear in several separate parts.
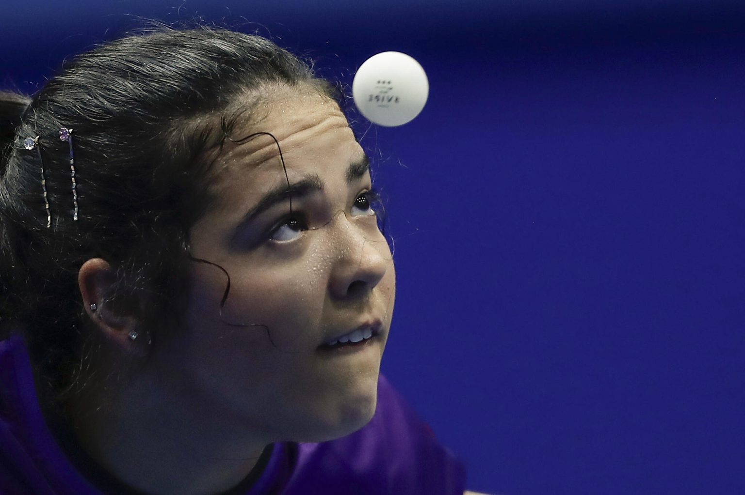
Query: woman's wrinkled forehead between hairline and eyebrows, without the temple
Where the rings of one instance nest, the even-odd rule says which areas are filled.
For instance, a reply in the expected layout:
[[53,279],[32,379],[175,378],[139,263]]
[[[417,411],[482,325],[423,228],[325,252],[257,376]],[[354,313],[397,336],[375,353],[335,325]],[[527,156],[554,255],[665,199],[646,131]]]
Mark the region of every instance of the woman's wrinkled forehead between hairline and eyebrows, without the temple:
[[[276,139],[276,141],[275,141]],[[364,153],[337,103],[317,92],[286,90],[238,118],[215,160],[217,192],[236,181],[261,186],[308,173],[332,173]],[[267,184],[267,187],[270,184]]]

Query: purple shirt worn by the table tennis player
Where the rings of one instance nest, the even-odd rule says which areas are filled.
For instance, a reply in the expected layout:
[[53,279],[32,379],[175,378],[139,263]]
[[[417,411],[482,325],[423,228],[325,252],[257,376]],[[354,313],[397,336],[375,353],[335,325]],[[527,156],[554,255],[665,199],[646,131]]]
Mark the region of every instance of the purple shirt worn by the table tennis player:
[[[80,469],[90,464],[81,464],[83,453],[74,462],[66,452],[44,421],[28,353],[14,334],[0,342],[0,495],[135,493],[100,470]],[[229,494],[462,495],[465,484],[463,464],[381,375],[369,424],[337,440],[272,444]]]

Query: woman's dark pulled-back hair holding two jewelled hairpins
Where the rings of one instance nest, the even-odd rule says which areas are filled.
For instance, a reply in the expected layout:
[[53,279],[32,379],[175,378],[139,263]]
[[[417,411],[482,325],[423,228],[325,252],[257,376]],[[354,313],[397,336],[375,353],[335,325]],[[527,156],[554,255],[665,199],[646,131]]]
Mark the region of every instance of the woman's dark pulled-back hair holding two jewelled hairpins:
[[[145,301],[142,321],[177,328],[193,262],[188,231],[212,200],[206,155],[225,141],[230,115],[250,106],[247,95],[301,85],[335,97],[308,64],[261,36],[158,28],[75,57],[31,98],[0,94],[0,326],[24,329],[52,403],[84,381],[80,266],[104,258],[115,270],[106,304]],[[74,132],[77,221],[60,127]],[[39,154],[23,146],[37,135],[50,228]]]

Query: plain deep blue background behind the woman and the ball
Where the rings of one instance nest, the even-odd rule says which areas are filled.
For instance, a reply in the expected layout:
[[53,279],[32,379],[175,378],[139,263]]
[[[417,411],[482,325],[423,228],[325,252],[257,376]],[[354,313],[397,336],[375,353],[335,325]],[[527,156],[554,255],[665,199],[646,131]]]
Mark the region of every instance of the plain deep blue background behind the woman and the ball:
[[745,494],[741,2],[4,0],[0,86],[124,13],[259,28],[348,84],[422,63],[422,114],[364,139],[396,240],[383,368],[470,489]]

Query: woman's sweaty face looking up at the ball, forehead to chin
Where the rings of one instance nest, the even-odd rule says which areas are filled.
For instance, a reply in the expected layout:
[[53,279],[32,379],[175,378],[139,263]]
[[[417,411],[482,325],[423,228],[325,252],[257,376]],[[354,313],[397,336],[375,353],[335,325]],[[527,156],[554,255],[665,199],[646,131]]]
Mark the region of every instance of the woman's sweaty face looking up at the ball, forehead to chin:
[[[287,92],[239,124],[215,162],[218,201],[191,230],[188,328],[165,345],[190,400],[269,441],[323,441],[375,412],[395,296],[367,159],[336,103]],[[288,188],[288,181],[290,187]],[[288,194],[291,193],[291,194]],[[352,353],[321,348],[356,328]]]

